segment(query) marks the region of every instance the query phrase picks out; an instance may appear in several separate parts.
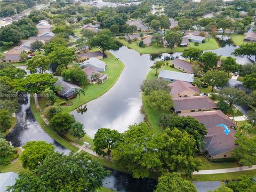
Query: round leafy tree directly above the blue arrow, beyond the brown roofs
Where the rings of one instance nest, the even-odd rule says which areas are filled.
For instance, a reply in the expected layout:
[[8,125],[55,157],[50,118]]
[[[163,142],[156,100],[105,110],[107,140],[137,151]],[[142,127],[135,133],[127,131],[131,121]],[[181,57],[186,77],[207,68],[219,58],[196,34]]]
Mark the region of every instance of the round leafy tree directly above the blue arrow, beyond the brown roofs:
[[233,105],[243,105],[247,102],[245,91],[238,90],[233,87],[226,87],[222,89],[219,96],[229,104],[229,107]]

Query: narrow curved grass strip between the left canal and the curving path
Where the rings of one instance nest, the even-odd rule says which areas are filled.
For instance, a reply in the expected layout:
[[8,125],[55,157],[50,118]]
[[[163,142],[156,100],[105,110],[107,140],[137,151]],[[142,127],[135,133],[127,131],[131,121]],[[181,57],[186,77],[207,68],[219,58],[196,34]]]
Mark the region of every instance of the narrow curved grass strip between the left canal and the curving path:
[[71,150],[71,151],[77,151],[78,148],[71,145],[68,141],[66,141],[65,139],[63,139],[62,137],[60,137],[60,135],[58,135],[55,131],[53,131],[52,129],[50,129],[49,126],[47,126],[44,122],[44,120],[42,119],[42,117],[39,114],[39,111],[36,108],[35,105],[35,100],[34,100],[34,95],[31,94],[30,95],[30,108],[31,111],[33,113],[33,115],[36,118],[36,121],[38,122],[38,124],[42,127],[42,129],[54,140],[56,140],[58,143],[60,143],[62,146],[66,147],[67,149]]

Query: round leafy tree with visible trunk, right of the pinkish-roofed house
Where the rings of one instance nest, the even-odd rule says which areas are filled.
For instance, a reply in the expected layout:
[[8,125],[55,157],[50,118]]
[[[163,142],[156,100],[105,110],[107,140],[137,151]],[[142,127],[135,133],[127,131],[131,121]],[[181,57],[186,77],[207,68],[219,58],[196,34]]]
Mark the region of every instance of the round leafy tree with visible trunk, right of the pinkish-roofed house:
[[228,78],[225,74],[225,71],[220,70],[212,70],[207,71],[206,74],[203,76],[204,83],[212,86],[212,90],[214,86],[224,86],[228,83]]

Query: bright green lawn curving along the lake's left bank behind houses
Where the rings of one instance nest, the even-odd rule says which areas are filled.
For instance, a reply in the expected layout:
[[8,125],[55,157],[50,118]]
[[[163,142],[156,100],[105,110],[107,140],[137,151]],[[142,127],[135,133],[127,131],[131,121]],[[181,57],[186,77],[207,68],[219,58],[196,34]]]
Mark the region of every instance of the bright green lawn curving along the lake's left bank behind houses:
[[79,99],[79,97],[72,99],[71,102],[73,105],[63,107],[63,111],[70,112],[84,103],[100,97],[100,95],[107,92],[116,83],[118,77],[121,75],[124,69],[124,63],[119,61],[118,67],[114,55],[109,52],[106,52],[106,54],[107,58],[102,59],[102,61],[105,61],[108,65],[107,70],[103,72],[108,75],[107,81],[102,84],[86,85],[84,87],[85,95],[82,94],[81,99]]

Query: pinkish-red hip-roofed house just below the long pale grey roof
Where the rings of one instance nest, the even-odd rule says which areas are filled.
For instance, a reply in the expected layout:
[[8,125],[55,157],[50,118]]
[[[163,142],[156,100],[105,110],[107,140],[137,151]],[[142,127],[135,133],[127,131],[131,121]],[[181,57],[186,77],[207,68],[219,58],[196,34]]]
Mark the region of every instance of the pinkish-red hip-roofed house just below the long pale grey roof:
[[192,97],[200,94],[200,90],[197,86],[193,86],[191,83],[184,81],[174,81],[168,85],[171,88],[170,94],[175,97]]

